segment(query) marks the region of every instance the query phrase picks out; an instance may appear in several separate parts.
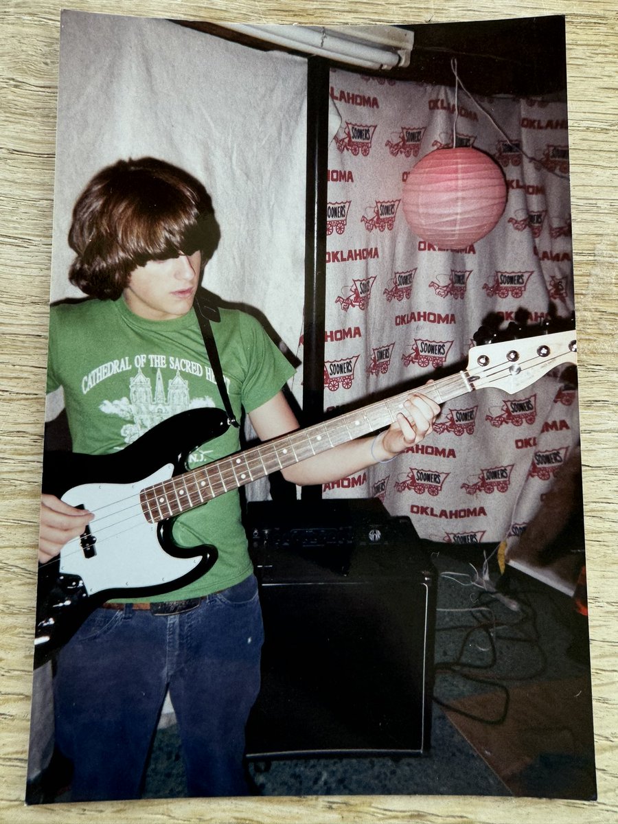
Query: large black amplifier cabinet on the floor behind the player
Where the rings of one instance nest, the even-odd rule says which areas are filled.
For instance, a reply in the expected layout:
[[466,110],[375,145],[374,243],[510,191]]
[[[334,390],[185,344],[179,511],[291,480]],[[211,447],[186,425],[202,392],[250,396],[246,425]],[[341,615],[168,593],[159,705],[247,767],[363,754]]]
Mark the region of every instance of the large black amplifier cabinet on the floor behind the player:
[[250,503],[265,622],[247,757],[428,751],[437,578],[377,499]]

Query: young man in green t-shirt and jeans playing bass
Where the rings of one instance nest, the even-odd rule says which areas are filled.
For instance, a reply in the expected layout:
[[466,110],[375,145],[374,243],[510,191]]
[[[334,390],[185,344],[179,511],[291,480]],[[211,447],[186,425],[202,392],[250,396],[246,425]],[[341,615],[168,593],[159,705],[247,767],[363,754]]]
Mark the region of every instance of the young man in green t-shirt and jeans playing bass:
[[[48,391],[63,387],[74,452],[115,455],[177,410],[224,407],[194,309],[212,218],[199,181],[148,157],[106,167],[77,199],[69,278],[90,299],[52,307],[48,370]],[[212,330],[234,417],[244,410],[261,441],[296,430],[282,391],[293,368],[257,321],[220,309]],[[283,475],[297,485],[353,475],[422,440],[438,411],[411,394],[377,436],[286,466]],[[204,433],[190,466],[239,447],[235,426],[210,440]],[[96,537],[97,521],[102,529],[105,512],[43,494],[41,563],[68,541]],[[72,800],[139,797],[168,689],[189,794],[247,792],[244,729],[260,686],[262,625],[237,489],[180,514],[173,540],[214,545],[218,559],[180,587],[97,607],[59,650],[56,743],[73,762]],[[130,532],[115,544],[130,553]],[[96,552],[96,542],[84,551]]]

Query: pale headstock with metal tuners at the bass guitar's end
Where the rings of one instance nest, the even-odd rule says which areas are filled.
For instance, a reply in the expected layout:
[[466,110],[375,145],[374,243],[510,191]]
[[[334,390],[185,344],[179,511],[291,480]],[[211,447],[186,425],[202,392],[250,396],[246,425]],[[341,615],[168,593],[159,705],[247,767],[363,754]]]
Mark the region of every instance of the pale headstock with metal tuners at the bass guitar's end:
[[468,376],[475,389],[493,386],[512,395],[561,363],[577,363],[575,330],[474,346]]

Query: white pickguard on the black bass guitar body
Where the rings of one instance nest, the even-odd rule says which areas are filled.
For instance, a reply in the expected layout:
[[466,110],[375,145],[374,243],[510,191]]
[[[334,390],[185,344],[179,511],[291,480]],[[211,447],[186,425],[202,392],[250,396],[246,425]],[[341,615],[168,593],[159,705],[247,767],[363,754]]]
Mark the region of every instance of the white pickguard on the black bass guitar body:
[[68,489],[63,501],[95,513],[90,528],[96,537],[96,555],[87,558],[79,538],[69,541],[60,555],[60,572],[82,578],[88,595],[173,583],[190,573],[203,556],[169,555],[157,539],[157,524],[147,522],[139,503],[145,486],[168,480],[172,472],[173,466],[166,464],[134,484],[83,484]]

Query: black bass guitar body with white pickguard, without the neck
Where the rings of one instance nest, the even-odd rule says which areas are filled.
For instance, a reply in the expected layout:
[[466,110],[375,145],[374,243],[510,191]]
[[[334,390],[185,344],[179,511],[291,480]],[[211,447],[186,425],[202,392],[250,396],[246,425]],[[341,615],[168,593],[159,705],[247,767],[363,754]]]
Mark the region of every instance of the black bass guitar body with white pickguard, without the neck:
[[95,518],[58,557],[39,566],[35,666],[103,602],[170,592],[213,567],[215,547],[177,545],[172,538],[176,516],[159,507],[153,518],[145,496],[152,502],[159,485],[187,470],[191,452],[227,426],[222,410],[189,410],[111,455],[45,454],[43,492],[88,509]]

